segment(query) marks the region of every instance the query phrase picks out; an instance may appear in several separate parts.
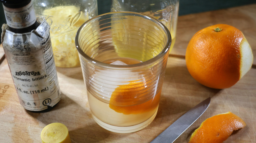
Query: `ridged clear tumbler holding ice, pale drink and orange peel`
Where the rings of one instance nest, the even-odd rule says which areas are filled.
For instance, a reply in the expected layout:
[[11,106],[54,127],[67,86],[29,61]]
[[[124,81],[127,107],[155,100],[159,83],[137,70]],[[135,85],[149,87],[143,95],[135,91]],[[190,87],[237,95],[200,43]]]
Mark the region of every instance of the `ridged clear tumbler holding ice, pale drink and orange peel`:
[[[159,103],[159,98],[156,96],[160,96],[171,44],[170,33],[163,24],[139,13],[111,12],[83,24],[77,32],[75,42],[87,87],[88,101],[96,122],[99,119],[114,127],[131,127],[156,114]],[[123,58],[136,60],[139,63],[130,65],[104,63],[109,59],[118,61]],[[116,90],[117,88],[119,90]],[[110,101],[111,98],[114,99],[111,96],[114,94],[119,96],[124,92],[132,95],[125,95],[129,98],[115,97],[118,100],[111,104],[117,109],[111,109]],[[140,111],[141,108],[138,112],[133,111],[137,110],[136,108],[132,108],[132,111],[117,111],[121,106],[126,106],[125,110],[129,110],[129,107],[137,107],[136,105],[142,103],[149,101],[153,103],[155,98],[158,100],[157,104],[152,106],[156,107],[153,107],[152,111],[145,111],[152,113],[148,117],[143,115],[145,119],[139,119],[139,114],[141,112],[144,114],[144,110]],[[115,113],[118,115],[115,116]],[[104,117],[104,114],[107,117]],[[138,118],[139,121],[125,121],[129,115]],[[119,132],[117,130],[111,131]]]

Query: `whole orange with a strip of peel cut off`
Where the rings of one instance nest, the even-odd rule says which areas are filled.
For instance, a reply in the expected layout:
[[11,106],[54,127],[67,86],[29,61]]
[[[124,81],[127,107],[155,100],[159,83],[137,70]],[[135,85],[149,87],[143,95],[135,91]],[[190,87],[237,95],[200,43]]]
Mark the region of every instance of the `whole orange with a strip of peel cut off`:
[[217,24],[198,31],[186,49],[186,66],[191,76],[211,88],[228,88],[250,70],[253,55],[243,33]]

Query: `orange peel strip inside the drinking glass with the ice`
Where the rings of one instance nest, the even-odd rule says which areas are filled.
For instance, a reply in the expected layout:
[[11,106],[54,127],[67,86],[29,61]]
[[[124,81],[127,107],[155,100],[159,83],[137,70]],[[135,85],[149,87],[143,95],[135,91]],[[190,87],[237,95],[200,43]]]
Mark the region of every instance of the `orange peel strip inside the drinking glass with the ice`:
[[146,89],[148,86],[150,85],[144,82],[131,82],[128,85],[117,87],[111,95],[109,107],[125,115],[139,114],[155,109],[159,104],[161,91],[154,98],[141,103],[145,101],[145,96],[150,92]]

